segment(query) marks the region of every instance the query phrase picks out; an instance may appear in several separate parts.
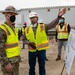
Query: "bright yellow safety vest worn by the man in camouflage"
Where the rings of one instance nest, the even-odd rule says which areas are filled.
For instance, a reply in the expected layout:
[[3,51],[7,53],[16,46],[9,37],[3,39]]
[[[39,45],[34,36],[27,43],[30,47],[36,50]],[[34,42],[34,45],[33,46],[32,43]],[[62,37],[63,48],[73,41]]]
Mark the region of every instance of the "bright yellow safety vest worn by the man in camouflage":
[[5,42],[5,51],[8,58],[12,58],[20,55],[20,46],[18,44],[18,33],[7,25],[0,25],[7,35],[7,40]]

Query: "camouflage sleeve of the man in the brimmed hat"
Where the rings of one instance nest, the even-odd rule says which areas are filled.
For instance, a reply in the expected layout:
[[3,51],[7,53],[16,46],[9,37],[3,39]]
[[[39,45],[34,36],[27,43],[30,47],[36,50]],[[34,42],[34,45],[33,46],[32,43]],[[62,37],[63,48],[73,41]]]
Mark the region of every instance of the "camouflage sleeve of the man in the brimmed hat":
[[0,58],[1,58],[2,64],[9,63],[9,60],[5,52],[5,46],[4,46],[6,39],[7,39],[7,36],[6,36],[5,31],[0,28]]

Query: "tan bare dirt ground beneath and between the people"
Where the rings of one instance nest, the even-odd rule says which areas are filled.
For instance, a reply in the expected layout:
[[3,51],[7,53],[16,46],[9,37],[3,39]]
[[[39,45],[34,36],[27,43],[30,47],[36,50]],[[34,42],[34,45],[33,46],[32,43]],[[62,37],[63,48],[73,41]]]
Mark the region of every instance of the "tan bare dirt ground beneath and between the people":
[[[20,46],[22,47],[22,41],[20,41]],[[25,46],[25,49],[21,49],[21,58],[20,62],[20,75],[28,75],[28,49]],[[46,61],[46,75],[61,75],[61,71],[64,65],[64,49],[62,50],[62,56],[60,61],[55,61],[57,57],[57,43],[50,41],[50,49],[46,52],[47,58],[49,61]],[[37,61],[37,60],[36,60]],[[39,75],[38,71],[38,62],[36,63],[36,75]],[[75,60],[71,69],[71,75],[75,75]],[[0,75],[2,75],[0,71]],[[66,75],[66,69],[64,68],[63,74]]]

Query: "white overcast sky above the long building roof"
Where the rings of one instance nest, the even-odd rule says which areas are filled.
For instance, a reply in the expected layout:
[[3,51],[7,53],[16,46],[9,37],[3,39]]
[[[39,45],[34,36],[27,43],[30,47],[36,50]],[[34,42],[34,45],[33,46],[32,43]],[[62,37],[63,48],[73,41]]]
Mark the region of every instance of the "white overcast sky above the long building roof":
[[13,5],[16,9],[46,7],[46,6],[61,6],[75,5],[75,0],[1,0],[0,10],[4,10],[6,6]]

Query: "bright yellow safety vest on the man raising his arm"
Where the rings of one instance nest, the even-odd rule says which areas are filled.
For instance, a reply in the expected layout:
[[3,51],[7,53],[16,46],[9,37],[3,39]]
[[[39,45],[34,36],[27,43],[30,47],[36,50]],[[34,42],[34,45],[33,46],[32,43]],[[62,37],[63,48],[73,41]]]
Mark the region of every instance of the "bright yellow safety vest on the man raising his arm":
[[[37,30],[36,30],[36,38],[34,37],[34,32],[32,29],[32,25],[26,28],[26,38],[30,42],[34,42],[36,44],[37,50],[44,50],[49,48],[48,44],[48,37],[45,32],[45,25],[38,24]],[[36,52],[32,47],[28,45],[28,49],[30,52]]]

